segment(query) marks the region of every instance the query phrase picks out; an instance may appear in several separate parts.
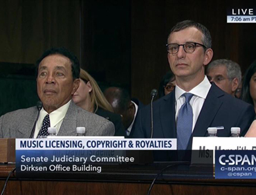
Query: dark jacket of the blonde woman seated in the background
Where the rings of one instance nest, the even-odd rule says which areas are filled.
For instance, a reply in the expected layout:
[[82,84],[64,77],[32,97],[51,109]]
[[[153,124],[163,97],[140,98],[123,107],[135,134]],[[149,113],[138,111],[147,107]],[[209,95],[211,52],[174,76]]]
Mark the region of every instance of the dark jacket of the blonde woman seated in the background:
[[95,114],[106,118],[107,120],[113,122],[115,125],[115,135],[114,136],[125,136],[125,127],[122,126],[122,118],[117,113],[112,113],[110,111],[105,111],[104,109],[98,108]]

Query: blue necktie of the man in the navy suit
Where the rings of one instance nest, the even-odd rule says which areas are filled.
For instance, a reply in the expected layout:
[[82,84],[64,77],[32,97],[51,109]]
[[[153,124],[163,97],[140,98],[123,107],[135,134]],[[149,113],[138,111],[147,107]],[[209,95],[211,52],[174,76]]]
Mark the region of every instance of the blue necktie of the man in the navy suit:
[[193,96],[192,93],[184,93],[185,103],[179,110],[177,120],[177,144],[178,149],[187,149],[190,136],[192,134],[193,125],[193,111],[190,105],[190,100]]

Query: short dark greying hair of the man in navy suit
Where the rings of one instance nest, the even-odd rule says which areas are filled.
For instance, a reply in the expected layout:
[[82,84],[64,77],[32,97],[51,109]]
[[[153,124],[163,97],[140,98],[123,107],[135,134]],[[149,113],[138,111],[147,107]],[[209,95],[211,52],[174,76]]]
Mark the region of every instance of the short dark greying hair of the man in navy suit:
[[200,30],[203,33],[203,38],[202,38],[202,42],[203,45],[206,48],[212,48],[212,37],[210,36],[210,31],[203,26],[203,24],[200,24],[196,21],[192,21],[192,20],[184,20],[181,21],[179,23],[177,23],[171,30],[168,39],[170,37],[170,35],[172,35],[172,32],[179,32],[180,30],[183,30],[185,28],[190,28],[190,27],[194,27],[197,28],[198,30]]

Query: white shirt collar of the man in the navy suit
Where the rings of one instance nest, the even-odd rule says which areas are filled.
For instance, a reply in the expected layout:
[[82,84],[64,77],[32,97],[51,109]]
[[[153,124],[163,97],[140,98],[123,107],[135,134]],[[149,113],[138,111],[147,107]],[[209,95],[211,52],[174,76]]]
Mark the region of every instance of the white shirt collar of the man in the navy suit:
[[181,97],[181,95],[183,95],[183,93],[192,93],[198,97],[202,97],[203,99],[205,99],[210,90],[210,87],[211,87],[211,84],[206,76],[204,77],[203,81],[200,84],[195,86],[190,91],[184,91],[183,89],[181,89],[179,86],[176,85],[175,99],[177,101]]

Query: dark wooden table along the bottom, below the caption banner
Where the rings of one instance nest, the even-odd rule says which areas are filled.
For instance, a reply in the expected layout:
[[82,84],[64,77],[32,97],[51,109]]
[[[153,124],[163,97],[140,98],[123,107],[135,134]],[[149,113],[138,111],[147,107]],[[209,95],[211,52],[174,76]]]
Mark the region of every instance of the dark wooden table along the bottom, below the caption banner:
[[[14,167],[0,165],[1,189]],[[12,174],[5,194],[147,194],[162,167],[165,165],[108,166],[100,174],[56,173],[53,177],[26,179]],[[208,174],[197,174],[196,169],[187,174],[171,167],[156,181],[151,194],[256,194],[256,180],[217,180],[208,178]]]

